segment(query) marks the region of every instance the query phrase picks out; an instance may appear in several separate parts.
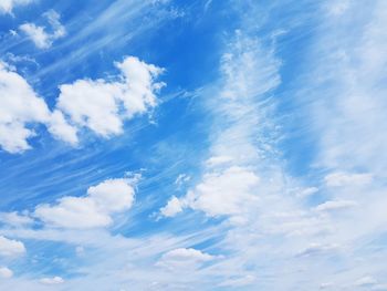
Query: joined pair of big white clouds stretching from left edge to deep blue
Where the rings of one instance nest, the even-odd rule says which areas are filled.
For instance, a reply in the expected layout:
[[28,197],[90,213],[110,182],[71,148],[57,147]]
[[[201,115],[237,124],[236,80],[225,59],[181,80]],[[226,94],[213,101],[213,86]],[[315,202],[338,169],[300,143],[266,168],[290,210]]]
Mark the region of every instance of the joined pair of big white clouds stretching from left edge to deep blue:
[[123,132],[123,122],[156,106],[155,82],[161,69],[128,56],[116,63],[119,81],[80,80],[60,86],[56,107],[50,111],[28,82],[13,67],[0,63],[0,146],[9,153],[30,148],[28,139],[44,124],[57,139],[79,143],[77,131],[85,126],[108,137]]

